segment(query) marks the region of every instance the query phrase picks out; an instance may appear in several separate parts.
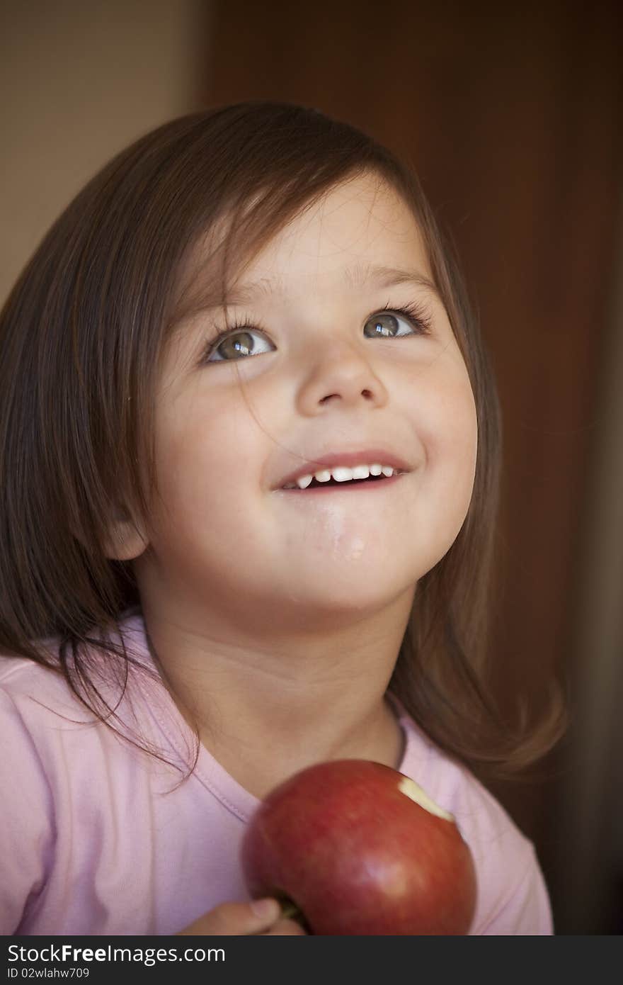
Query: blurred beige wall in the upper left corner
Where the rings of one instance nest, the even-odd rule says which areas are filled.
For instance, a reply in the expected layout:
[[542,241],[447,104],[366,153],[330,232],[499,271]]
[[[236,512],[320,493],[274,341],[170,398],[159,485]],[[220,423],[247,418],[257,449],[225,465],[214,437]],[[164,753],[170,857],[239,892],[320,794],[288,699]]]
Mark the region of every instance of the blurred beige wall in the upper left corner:
[[3,0],[0,302],[85,181],[198,108],[209,0]]

